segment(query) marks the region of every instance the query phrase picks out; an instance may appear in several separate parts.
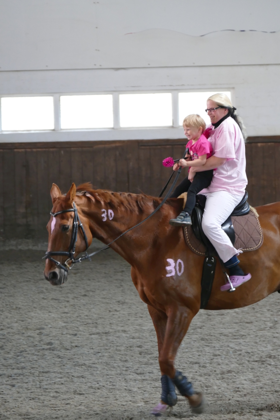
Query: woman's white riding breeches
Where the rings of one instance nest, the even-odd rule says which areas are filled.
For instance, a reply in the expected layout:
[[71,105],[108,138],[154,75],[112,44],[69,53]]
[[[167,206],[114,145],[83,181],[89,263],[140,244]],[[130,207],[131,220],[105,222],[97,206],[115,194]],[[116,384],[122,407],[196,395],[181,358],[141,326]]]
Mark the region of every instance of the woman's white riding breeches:
[[226,262],[238,254],[238,250],[222,230],[221,225],[241,202],[243,195],[233,195],[227,191],[208,192],[203,195],[207,200],[202,217],[202,229],[221,260]]

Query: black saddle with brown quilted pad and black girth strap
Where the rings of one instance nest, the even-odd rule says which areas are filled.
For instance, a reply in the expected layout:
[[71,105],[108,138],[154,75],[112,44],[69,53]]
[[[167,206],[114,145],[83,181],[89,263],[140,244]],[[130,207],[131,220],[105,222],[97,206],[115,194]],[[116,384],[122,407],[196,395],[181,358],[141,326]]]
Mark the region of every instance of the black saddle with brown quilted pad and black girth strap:
[[[249,205],[247,199],[248,192],[246,191],[241,202],[222,224],[222,229],[230,238],[231,243],[242,252],[256,250],[263,242],[258,214]],[[196,205],[191,214],[192,225],[183,228],[188,247],[197,255],[205,256],[201,276],[201,309],[206,307],[211,294],[217,257],[215,248],[205,236],[201,227],[205,203],[206,197],[198,194],[196,196]]]

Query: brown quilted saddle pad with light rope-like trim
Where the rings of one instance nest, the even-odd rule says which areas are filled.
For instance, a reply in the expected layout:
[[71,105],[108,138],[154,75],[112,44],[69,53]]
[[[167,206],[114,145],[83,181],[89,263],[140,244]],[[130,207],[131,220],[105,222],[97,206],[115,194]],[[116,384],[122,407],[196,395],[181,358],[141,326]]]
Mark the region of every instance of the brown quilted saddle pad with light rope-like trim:
[[[245,216],[231,216],[231,220],[236,237],[234,247],[243,252],[259,249],[264,238],[258,216],[253,208],[250,207],[249,213]],[[183,231],[188,247],[197,255],[205,255],[206,248],[194,236],[191,225],[185,226]]]

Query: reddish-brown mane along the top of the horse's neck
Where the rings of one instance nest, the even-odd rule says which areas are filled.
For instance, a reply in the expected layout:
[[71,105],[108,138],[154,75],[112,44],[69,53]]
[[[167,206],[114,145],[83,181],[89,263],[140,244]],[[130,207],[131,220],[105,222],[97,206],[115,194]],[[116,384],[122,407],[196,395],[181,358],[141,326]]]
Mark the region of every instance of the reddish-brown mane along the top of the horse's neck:
[[[90,182],[85,182],[77,186],[76,192],[78,195],[90,194],[95,200],[107,203],[112,209],[116,209],[122,205],[127,210],[136,211],[138,214],[144,213],[150,205],[156,208],[162,201],[161,198],[152,197],[143,193],[133,194],[130,192],[113,192],[107,189],[93,189]],[[178,207],[179,202],[177,199],[167,199],[166,204],[171,207]],[[181,204],[179,204],[179,207],[181,207]]]

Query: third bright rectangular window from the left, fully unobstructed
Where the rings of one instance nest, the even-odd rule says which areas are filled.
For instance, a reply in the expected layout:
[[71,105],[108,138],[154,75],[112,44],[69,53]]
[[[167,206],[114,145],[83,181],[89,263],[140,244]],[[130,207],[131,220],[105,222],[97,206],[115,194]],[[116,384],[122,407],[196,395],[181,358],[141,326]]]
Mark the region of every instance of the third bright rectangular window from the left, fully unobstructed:
[[120,126],[172,126],[171,93],[120,95]]

